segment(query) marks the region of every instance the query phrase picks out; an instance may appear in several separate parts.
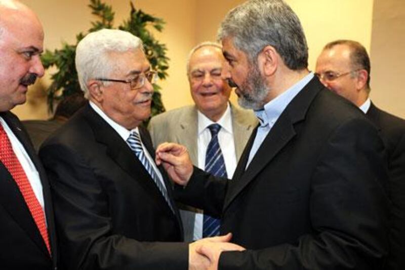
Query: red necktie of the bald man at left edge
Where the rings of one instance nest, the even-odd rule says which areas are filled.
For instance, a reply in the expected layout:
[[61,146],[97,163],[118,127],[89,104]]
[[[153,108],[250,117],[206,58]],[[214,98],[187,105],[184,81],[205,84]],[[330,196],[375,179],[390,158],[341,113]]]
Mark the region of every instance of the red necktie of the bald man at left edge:
[[10,172],[16,181],[18,188],[21,191],[22,197],[31,212],[32,218],[35,221],[36,226],[41,233],[42,238],[45,241],[45,245],[51,254],[51,249],[49,245],[48,230],[45,223],[45,214],[35,197],[34,191],[32,190],[31,184],[25,175],[24,169],[22,168],[20,162],[17,159],[16,154],[13,151],[9,137],[0,123],[0,161],[4,164],[7,170]]

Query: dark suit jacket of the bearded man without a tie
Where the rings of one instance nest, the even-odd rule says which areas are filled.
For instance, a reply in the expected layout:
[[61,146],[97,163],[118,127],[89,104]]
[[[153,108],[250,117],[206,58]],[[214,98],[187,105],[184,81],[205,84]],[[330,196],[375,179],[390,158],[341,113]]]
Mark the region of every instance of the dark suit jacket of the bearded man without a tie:
[[[387,173],[378,131],[358,108],[312,79],[246,168],[256,130],[230,181],[194,168],[185,203],[222,214],[245,252],[220,269],[378,269],[387,253]],[[203,190],[203,191],[201,191]]]

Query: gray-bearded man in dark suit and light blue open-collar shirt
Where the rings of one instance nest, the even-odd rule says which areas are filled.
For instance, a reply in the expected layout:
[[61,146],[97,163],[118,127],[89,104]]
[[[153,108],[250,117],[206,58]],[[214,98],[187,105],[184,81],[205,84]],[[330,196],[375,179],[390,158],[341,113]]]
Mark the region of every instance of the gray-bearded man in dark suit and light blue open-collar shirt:
[[199,252],[212,269],[379,269],[387,253],[387,177],[377,129],[307,70],[298,17],[279,0],[231,10],[219,30],[224,78],[260,120],[232,180],[193,168],[184,146],[157,163],[185,185],[178,199],[221,215],[245,251]]

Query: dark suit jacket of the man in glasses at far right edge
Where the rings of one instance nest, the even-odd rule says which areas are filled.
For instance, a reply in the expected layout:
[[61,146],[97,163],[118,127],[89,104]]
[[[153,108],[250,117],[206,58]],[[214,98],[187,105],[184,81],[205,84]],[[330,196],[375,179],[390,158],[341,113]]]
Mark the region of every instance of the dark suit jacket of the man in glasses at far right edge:
[[405,120],[377,108],[367,117],[380,129],[388,158],[388,193],[392,201],[387,269],[405,269]]

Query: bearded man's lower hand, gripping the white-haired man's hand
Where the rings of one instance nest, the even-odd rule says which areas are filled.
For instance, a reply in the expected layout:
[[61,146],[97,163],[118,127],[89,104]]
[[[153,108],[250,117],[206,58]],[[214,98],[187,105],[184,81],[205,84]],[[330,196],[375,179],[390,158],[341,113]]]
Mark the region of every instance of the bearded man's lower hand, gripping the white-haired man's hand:
[[[230,235],[230,234],[228,234],[228,235]],[[228,236],[228,235],[226,235],[226,236]],[[209,239],[209,238],[207,238],[207,239]],[[246,249],[239,245],[236,245],[233,243],[227,243],[227,242],[221,243],[221,242],[217,242],[217,241],[206,241],[206,242],[201,243],[201,245],[199,245],[196,248],[197,253],[209,258],[210,266],[207,268],[208,270],[217,270],[218,269],[219,257],[221,255],[222,251],[244,251],[244,250],[246,250]]]

